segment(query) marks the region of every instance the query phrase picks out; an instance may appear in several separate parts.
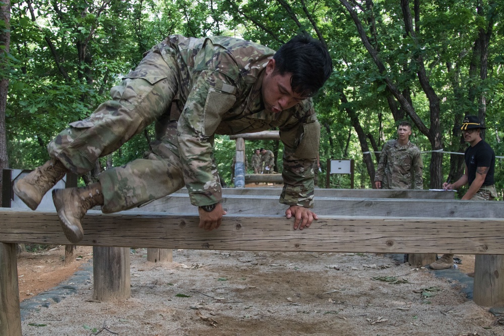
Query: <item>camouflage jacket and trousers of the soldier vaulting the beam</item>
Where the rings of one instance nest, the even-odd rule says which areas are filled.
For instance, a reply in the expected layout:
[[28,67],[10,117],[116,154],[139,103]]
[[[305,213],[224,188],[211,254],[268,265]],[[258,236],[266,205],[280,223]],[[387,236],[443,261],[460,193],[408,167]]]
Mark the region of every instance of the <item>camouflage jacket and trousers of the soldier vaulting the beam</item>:
[[51,141],[49,154],[83,174],[99,157],[156,121],[156,140],[143,159],[99,175],[102,211],[131,209],[184,185],[191,203],[204,206],[222,199],[213,160],[214,134],[278,127],[284,143],[280,202],[311,208],[310,168],[318,151],[320,124],[311,99],[280,113],[263,110],[263,70],[273,54],[267,47],[230,37],[169,36],[111,89],[111,100]]

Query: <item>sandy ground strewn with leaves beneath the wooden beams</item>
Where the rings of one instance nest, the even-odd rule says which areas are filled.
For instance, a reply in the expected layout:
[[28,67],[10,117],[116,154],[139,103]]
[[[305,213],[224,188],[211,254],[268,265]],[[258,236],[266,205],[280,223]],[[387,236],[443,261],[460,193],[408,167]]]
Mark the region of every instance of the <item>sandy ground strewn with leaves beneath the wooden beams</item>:
[[[77,254],[85,260],[90,251]],[[75,266],[60,260],[64,248],[47,252],[29,259],[31,270],[20,257],[20,292],[35,295],[41,280],[65,273],[58,267]],[[458,283],[385,255],[175,250],[172,263],[146,256],[131,254],[130,299],[95,302],[92,285],[81,284],[77,295],[23,321],[23,335],[504,335]],[[471,256],[460,257],[472,271]]]

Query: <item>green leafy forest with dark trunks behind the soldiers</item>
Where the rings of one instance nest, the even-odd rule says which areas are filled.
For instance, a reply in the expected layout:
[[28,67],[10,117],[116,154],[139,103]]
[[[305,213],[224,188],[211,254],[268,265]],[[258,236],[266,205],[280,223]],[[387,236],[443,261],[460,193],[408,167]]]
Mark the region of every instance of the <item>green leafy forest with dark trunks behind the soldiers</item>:
[[[413,125],[422,151],[424,188],[464,172],[464,115],[478,115],[483,138],[504,155],[504,25],[501,0],[3,0],[0,6],[0,168],[33,169],[47,143],[81,120],[167,35],[227,35],[277,49],[307,32],[327,45],[334,72],[313,98],[322,124],[324,185],[328,159],[355,160],[355,187],[373,187],[383,144],[397,124]],[[103,169],[141,158],[147,128],[103,158]],[[282,144],[246,141],[275,153]],[[217,136],[215,159],[230,184],[235,142]],[[452,153],[452,154],[450,154]],[[503,198],[504,172],[495,179]],[[350,187],[333,175],[331,187]],[[460,190],[461,193],[464,189]]]

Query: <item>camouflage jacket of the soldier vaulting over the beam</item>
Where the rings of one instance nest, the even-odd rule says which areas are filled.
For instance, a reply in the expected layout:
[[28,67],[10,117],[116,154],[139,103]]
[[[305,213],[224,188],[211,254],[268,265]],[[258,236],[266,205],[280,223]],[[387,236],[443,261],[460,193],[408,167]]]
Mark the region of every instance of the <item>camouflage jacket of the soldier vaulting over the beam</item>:
[[[153,52],[175,57],[179,69],[177,138],[184,182],[195,206],[215,204],[222,190],[212,164],[214,135],[278,127],[284,144],[280,203],[313,207],[313,169],[320,123],[311,99],[280,113],[264,110],[262,78],[274,50],[231,37],[172,35]],[[173,63],[172,61],[169,63]],[[173,114],[173,104],[172,104]]]

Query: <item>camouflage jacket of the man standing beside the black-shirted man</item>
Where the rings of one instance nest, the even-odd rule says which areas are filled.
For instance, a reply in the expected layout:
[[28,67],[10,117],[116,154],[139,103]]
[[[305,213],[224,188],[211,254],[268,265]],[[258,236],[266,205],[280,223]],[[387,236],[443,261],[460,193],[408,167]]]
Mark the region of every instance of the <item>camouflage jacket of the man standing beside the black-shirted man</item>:
[[374,181],[382,181],[383,189],[423,189],[422,169],[418,147],[391,140],[382,149]]

